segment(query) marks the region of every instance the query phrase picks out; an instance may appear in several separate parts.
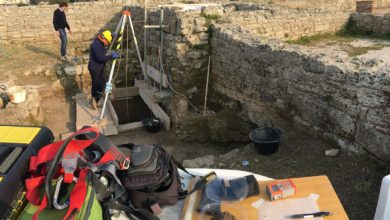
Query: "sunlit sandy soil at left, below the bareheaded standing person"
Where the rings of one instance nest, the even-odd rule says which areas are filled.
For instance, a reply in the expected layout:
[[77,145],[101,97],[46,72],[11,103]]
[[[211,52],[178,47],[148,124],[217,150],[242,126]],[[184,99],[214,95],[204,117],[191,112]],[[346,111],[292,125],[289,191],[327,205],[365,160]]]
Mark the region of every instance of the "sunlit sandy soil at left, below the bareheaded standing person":
[[[70,47],[71,46],[72,45],[70,45]],[[55,74],[55,67],[62,64],[59,60],[59,50],[59,43],[43,45],[5,45],[7,56],[0,57],[0,82],[13,81],[15,85],[39,88],[42,98],[41,106],[46,118],[44,125],[48,126],[57,138],[59,137],[59,134],[75,129],[75,107],[71,100],[74,94],[69,93],[68,91],[56,93],[51,91],[52,84],[60,79],[60,77]],[[70,56],[72,56],[74,52],[72,52],[71,49],[69,49],[69,51]],[[38,66],[52,66],[54,74],[51,76],[45,76],[44,74],[24,75],[25,71],[33,71]],[[6,111],[7,109],[4,110],[3,114],[12,117],[12,112]],[[0,123],[2,123],[1,119]]]

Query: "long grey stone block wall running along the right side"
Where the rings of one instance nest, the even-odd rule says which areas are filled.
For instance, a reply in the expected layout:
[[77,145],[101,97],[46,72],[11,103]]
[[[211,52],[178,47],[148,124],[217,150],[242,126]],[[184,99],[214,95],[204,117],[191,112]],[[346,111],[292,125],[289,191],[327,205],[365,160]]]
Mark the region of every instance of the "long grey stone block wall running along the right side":
[[341,62],[336,54],[260,40],[227,25],[217,26],[212,42],[213,88],[240,102],[252,122],[287,121],[389,160],[389,64]]

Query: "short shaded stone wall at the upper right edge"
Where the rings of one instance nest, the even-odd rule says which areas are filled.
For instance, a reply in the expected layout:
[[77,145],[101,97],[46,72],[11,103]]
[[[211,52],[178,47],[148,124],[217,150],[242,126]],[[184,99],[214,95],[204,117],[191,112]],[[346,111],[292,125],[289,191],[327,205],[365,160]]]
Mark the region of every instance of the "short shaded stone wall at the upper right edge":
[[357,32],[385,35],[390,33],[390,14],[373,15],[353,13],[350,17],[350,27]]

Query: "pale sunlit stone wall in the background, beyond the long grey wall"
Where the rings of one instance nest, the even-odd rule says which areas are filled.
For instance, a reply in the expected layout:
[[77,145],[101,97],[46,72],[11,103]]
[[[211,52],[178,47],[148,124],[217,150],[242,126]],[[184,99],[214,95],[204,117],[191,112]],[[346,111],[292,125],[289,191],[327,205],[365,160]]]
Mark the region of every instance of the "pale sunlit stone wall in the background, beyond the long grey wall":
[[334,33],[342,28],[348,12],[327,9],[291,9],[252,5],[236,6],[222,20],[250,33],[278,39],[296,39],[301,36]]

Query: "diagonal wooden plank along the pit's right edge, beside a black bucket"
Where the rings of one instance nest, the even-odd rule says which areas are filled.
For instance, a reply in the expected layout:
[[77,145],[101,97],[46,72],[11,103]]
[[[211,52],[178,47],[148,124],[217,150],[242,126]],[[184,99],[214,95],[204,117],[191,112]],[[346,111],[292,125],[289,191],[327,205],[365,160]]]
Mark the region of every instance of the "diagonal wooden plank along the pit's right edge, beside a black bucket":
[[144,100],[145,104],[150,108],[150,110],[153,112],[153,114],[159,118],[166,130],[169,130],[171,127],[171,119],[167,115],[167,113],[164,112],[164,110],[155,103],[155,100],[153,99],[150,92],[148,92],[146,83],[139,83],[139,94],[141,98]]

